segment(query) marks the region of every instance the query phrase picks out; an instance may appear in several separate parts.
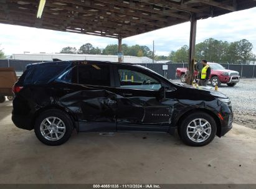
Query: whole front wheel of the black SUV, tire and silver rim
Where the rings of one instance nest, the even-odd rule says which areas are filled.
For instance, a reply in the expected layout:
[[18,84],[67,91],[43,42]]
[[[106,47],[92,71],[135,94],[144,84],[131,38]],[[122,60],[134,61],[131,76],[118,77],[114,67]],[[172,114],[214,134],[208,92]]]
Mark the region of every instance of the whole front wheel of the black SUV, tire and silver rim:
[[214,118],[203,112],[192,113],[179,126],[181,140],[192,146],[209,144],[216,136],[217,126]]

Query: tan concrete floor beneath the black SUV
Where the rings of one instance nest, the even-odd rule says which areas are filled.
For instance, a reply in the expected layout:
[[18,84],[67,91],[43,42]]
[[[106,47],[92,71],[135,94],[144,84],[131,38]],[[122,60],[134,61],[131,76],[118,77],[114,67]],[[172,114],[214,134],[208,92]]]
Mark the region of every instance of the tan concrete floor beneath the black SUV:
[[11,121],[0,104],[0,183],[256,183],[256,130],[234,124],[205,147],[169,134],[73,133],[57,147]]

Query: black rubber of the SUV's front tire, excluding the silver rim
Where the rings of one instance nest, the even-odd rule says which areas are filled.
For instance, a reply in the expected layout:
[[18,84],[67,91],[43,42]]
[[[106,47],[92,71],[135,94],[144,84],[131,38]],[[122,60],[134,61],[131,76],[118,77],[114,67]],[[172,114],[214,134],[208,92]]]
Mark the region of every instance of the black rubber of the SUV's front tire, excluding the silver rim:
[[[209,137],[205,141],[202,141],[204,139],[201,139],[201,141],[198,141],[198,142],[192,141],[192,139],[190,139],[188,136],[189,134],[187,134],[187,127],[195,119],[202,119],[202,121],[206,120],[207,122],[209,122],[209,125],[211,127],[211,134],[209,134]],[[191,129],[191,128],[189,127],[189,129]],[[217,126],[216,126],[216,122],[214,121],[214,118],[212,118],[212,116],[210,116],[207,113],[198,111],[197,113],[192,113],[189,116],[187,116],[187,118],[185,118],[181,122],[180,126],[178,127],[178,130],[179,130],[178,131],[179,136],[181,137],[181,140],[185,144],[191,145],[191,146],[203,146],[203,145],[209,144],[214,139],[214,137],[216,136],[216,132],[217,132]],[[199,133],[199,132],[197,132],[197,133]],[[201,137],[203,137],[203,135],[206,136],[206,134],[202,133]],[[197,134],[195,137],[197,137],[197,136],[199,136],[199,134]],[[199,139],[200,139],[200,137],[199,137]]]

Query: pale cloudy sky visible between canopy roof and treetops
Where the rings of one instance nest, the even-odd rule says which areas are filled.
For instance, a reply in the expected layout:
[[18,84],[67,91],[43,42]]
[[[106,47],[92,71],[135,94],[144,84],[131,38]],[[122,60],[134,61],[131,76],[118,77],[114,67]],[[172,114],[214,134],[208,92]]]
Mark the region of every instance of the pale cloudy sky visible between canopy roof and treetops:
[[[256,7],[245,11],[232,12],[223,16],[197,21],[196,44],[210,37],[227,42],[247,39],[254,45],[256,54]],[[145,34],[135,35],[122,40],[123,44],[146,45],[156,55],[168,55],[189,45],[190,23],[166,27]],[[86,43],[94,47],[105,48],[108,44],[117,44],[116,39],[85,34],[74,34],[54,30],[36,29],[17,25],[0,24],[0,48],[6,55],[13,53],[58,53],[64,47],[77,49]]]

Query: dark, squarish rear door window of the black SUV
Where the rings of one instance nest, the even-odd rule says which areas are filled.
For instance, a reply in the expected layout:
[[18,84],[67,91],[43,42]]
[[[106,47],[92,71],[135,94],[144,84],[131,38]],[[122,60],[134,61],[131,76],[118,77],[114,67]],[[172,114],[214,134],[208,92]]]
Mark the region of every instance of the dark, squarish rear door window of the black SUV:
[[78,83],[82,85],[110,86],[110,67],[98,64],[79,65]]

